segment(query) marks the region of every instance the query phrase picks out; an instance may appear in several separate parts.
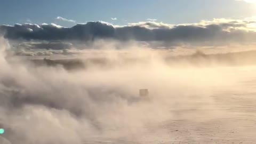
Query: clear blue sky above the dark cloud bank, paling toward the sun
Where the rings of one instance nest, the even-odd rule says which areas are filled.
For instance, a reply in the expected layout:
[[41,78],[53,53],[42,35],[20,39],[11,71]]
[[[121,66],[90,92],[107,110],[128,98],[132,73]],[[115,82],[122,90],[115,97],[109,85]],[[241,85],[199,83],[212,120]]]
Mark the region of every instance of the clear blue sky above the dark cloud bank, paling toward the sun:
[[[213,18],[240,19],[256,14],[255,5],[235,0],[0,0],[0,25],[57,23],[73,26],[87,21],[115,25],[157,19],[165,23],[192,23]],[[76,22],[57,20],[62,17]],[[117,18],[112,20],[111,18]]]

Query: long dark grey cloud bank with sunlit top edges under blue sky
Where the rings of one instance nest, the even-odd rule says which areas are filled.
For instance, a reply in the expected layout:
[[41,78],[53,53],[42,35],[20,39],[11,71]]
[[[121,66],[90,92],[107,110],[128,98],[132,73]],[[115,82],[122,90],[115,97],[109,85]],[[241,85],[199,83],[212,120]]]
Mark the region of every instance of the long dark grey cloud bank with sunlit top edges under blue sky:
[[[59,17],[61,20],[66,20]],[[70,21],[70,20],[69,20]],[[189,43],[221,45],[227,43],[254,43],[255,20],[214,19],[199,23],[170,25],[163,22],[129,23],[113,26],[106,22],[87,22],[66,28],[55,24],[0,26],[7,39],[40,41],[81,41],[116,39],[118,41],[163,42],[168,44]]]

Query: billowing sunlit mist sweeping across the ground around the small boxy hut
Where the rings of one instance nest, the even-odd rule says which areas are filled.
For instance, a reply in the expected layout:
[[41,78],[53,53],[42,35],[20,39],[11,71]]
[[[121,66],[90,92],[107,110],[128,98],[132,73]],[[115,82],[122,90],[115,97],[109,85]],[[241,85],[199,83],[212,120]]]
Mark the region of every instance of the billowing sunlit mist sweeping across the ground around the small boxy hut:
[[[0,41],[0,126],[6,129],[0,139],[5,143],[208,140],[198,138],[196,131],[190,136],[173,132],[190,129],[191,123],[207,126],[209,122],[211,127],[213,119],[229,118],[227,108],[233,101],[219,98],[249,92],[239,84],[255,78],[256,67],[251,65],[223,66],[213,60],[212,66],[198,67],[189,59],[170,62],[166,51],[136,43],[117,50],[111,49],[113,43],[101,42],[96,45],[102,49],[73,55],[83,62],[105,61],[87,61],[86,68],[37,66],[28,60],[10,60],[15,56],[6,53],[9,42]],[[148,98],[140,98],[140,89],[149,90]]]

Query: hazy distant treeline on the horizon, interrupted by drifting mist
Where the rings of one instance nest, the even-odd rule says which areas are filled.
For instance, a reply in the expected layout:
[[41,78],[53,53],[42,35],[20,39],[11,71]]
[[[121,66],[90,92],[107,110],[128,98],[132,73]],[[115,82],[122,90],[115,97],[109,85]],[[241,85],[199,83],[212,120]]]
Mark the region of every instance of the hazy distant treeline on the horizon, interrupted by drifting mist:
[[[192,66],[242,66],[256,64],[256,51],[234,52],[234,53],[219,53],[219,54],[204,54],[197,51],[191,55],[178,55],[164,58],[167,65],[180,65],[186,63]],[[116,61],[107,58],[88,58],[88,59],[41,59],[31,60],[36,66],[62,66],[65,69],[85,69],[91,66],[109,68],[117,65],[133,65],[136,62],[145,62],[145,59],[139,58],[123,58]]]

